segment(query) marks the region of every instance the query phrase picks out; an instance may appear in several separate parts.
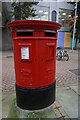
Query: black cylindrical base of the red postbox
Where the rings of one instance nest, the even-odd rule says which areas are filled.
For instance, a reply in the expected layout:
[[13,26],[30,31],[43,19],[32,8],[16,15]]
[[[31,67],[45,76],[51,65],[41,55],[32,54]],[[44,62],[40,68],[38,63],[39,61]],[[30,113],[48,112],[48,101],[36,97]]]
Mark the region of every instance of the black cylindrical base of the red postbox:
[[50,106],[55,101],[53,84],[42,88],[22,88],[16,85],[17,106],[25,110],[39,110]]

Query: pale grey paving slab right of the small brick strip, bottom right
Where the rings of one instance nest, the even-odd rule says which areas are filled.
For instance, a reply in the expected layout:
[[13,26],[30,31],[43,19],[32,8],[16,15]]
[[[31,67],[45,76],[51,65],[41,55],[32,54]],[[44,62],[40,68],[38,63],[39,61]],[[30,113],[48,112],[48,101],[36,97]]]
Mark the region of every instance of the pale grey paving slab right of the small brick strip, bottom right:
[[56,99],[70,118],[78,117],[78,94],[69,87],[58,87]]

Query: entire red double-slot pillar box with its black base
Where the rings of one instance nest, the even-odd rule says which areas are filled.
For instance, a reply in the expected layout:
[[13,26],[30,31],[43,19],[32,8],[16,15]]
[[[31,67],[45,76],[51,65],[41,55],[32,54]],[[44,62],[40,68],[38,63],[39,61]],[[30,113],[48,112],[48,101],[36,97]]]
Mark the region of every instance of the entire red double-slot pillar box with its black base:
[[12,28],[18,107],[38,110],[55,101],[57,29],[60,24],[17,20]]

